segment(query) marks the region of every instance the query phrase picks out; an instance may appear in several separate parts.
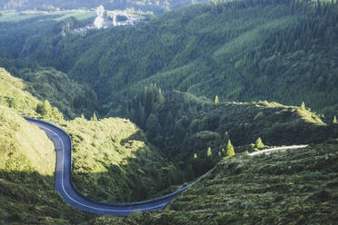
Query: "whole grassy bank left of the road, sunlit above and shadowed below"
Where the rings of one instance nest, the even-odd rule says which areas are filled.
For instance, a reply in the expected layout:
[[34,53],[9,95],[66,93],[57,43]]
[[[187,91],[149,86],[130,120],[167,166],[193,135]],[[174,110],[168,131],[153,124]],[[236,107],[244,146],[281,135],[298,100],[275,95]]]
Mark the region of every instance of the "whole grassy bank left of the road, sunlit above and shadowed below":
[[55,150],[45,132],[0,105],[0,222],[69,224],[90,218],[54,191]]

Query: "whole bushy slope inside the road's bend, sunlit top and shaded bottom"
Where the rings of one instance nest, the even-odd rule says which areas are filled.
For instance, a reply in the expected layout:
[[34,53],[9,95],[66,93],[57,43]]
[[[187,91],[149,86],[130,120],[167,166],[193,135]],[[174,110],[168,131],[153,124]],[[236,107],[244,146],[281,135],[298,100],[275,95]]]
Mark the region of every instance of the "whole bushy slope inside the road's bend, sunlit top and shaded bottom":
[[99,201],[143,201],[182,181],[180,171],[145,138],[134,123],[121,118],[65,122],[72,136],[75,187]]

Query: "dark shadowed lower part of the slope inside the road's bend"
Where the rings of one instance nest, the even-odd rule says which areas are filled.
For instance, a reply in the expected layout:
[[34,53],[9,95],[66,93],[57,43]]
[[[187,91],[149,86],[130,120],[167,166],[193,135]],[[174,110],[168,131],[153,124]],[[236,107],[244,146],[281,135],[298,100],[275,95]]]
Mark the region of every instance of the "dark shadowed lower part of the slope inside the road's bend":
[[140,130],[120,144],[124,149],[133,148],[134,141],[144,142],[148,148],[137,148],[133,157],[125,157],[119,165],[96,161],[104,166],[104,172],[86,172],[77,167],[73,172],[75,188],[91,200],[114,203],[144,201],[175,191],[173,185],[184,182],[182,171],[165,161]]

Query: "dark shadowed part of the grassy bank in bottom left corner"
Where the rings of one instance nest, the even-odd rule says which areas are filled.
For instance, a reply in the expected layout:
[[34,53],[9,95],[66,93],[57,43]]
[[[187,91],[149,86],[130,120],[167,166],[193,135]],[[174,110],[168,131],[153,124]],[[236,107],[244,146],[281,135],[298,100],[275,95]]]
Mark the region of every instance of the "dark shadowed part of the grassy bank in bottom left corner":
[[0,222],[75,224],[93,217],[62,200],[54,191],[54,176],[0,170]]

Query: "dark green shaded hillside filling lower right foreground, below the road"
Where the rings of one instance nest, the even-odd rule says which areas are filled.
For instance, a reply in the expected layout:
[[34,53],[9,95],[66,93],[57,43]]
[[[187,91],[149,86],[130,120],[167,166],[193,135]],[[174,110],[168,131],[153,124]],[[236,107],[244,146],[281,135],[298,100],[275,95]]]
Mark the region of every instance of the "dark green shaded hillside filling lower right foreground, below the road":
[[164,211],[89,224],[334,224],[337,146],[224,159]]

